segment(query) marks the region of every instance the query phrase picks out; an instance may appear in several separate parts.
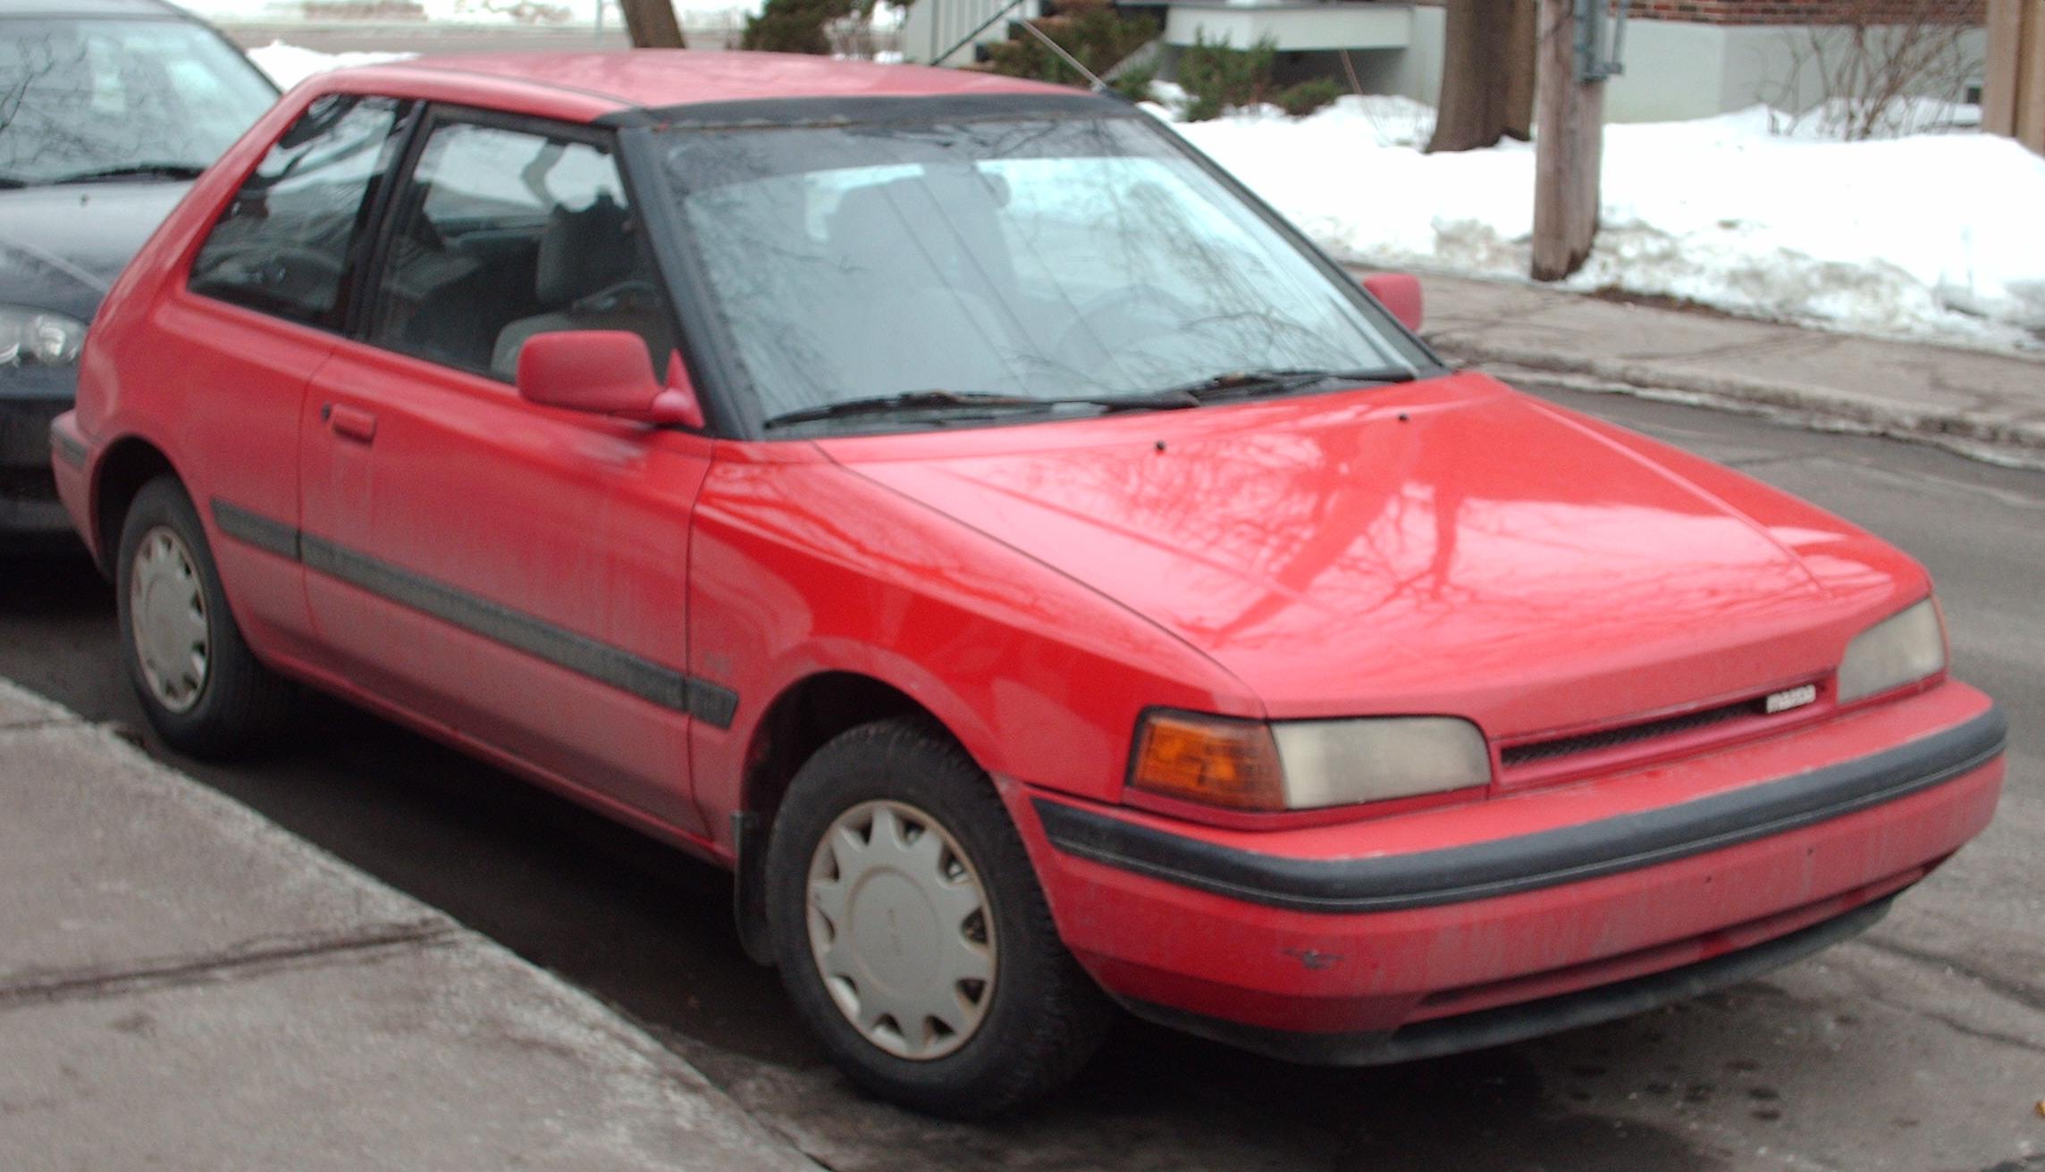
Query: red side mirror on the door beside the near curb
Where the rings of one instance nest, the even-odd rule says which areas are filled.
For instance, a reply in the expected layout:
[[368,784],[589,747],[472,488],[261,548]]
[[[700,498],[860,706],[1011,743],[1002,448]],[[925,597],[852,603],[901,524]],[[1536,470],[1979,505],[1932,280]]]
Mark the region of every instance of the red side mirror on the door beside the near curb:
[[517,393],[528,403],[564,411],[703,425],[703,405],[681,354],[669,354],[661,382],[646,362],[646,340],[624,329],[534,333],[517,354]]

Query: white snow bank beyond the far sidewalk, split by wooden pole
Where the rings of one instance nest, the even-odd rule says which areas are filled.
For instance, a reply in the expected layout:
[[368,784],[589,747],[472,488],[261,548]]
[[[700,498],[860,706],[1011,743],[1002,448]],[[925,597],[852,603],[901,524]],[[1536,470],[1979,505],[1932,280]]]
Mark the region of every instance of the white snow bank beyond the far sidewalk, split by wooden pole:
[[[1914,125],[1967,121],[1947,112]],[[1403,98],[1176,123],[1346,260],[1524,276],[1534,147],[1425,155],[1429,127]],[[1761,106],[1607,127],[1603,229],[1569,284],[1865,333],[2045,337],[2045,160],[1978,133],[1820,135]]]

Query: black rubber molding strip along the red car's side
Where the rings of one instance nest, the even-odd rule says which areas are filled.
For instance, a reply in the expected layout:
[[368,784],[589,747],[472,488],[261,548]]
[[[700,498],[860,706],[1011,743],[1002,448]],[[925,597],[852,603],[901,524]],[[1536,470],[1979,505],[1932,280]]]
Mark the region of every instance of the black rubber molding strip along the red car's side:
[[683,675],[622,646],[573,632],[542,618],[452,587],[438,579],[395,567],[364,552],[301,532],[284,522],[252,513],[229,501],[213,501],[213,520],[237,542],[303,562],[305,569],[366,589],[399,605],[429,614],[470,634],[524,650],[534,659],[587,675],[712,724],[730,728],[738,716],[738,693]]

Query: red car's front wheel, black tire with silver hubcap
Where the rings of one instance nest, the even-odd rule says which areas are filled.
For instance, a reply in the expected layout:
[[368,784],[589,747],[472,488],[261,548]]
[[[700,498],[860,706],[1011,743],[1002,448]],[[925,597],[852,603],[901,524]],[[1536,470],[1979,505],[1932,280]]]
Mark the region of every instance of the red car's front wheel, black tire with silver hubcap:
[[[920,832],[912,826],[918,820]],[[861,824],[867,835],[863,845]],[[826,832],[849,835],[834,839],[847,845],[847,855],[836,845],[822,849]],[[918,851],[920,871],[918,863],[892,869],[906,857],[900,847],[906,837],[916,843],[906,849]],[[869,855],[875,849],[892,863],[875,861],[879,855]],[[924,904],[902,904],[908,892],[902,884],[914,886],[902,875],[928,875],[930,859],[939,859],[941,875],[935,896],[926,886]],[[828,894],[853,892],[847,880],[855,875],[863,875],[857,896],[847,894],[838,902]],[[816,908],[814,884],[820,886]],[[959,951],[961,945],[951,939],[951,916],[937,908],[957,914],[975,896],[980,910],[959,922],[967,941]],[[826,906],[838,922],[822,910]],[[930,914],[924,918],[918,908],[930,908]],[[906,943],[898,935],[898,910]],[[796,773],[767,847],[767,922],[781,982],[830,1057],[867,1092],[916,1111],[978,1119],[1045,1094],[1086,1066],[1112,1015],[1092,978],[1057,939],[1022,839],[988,775],[951,738],[920,720],[879,720],[843,732]],[[865,941],[855,941],[855,922]],[[922,927],[930,931],[922,933]],[[847,953],[830,953],[838,957],[830,959],[826,941],[836,943],[840,931]],[[928,941],[935,943],[924,947]],[[953,982],[953,974],[967,972],[980,951],[990,953],[990,978]],[[963,957],[965,967],[947,967],[943,955]],[[937,959],[922,963],[928,957]],[[857,970],[857,980],[830,976],[826,967]],[[900,986],[920,992],[924,1000],[918,1004],[933,1004],[930,996],[955,996],[957,1017],[971,1021],[945,1031],[935,1019],[916,1025],[922,1010],[910,1008],[904,1015],[910,1021],[896,1021],[894,1029],[894,1015],[871,1029],[855,1025],[855,1012],[871,1015],[881,1000],[896,996],[892,986],[875,980],[869,986],[875,1000],[867,1000],[861,982],[873,972],[908,974]],[[918,980],[922,974],[930,980]],[[916,992],[904,994],[904,1004],[914,1002]]]

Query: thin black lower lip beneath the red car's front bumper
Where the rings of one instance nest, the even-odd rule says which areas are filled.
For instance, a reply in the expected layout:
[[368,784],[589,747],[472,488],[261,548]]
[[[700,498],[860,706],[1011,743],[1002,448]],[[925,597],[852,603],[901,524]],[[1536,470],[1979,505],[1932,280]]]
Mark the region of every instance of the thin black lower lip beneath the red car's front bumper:
[[1145,1021],[1284,1062],[1311,1066],[1417,1062],[1583,1029],[1751,982],[1865,933],[1890,912],[1894,900],[1896,896],[1883,896],[1722,957],[1542,1000],[1440,1017],[1391,1033],[1290,1033],[1131,998],[1123,998],[1123,1006]]

